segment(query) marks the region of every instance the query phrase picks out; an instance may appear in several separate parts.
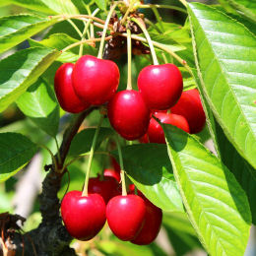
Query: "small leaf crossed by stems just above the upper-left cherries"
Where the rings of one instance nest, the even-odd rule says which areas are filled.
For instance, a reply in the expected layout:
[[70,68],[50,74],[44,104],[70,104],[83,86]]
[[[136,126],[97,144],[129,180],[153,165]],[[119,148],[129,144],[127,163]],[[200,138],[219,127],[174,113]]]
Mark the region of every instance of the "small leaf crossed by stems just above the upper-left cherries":
[[[43,39],[41,41],[36,41],[33,39],[29,39],[31,46],[46,46],[50,48],[56,48],[58,50],[62,50],[68,45],[78,42],[79,40],[69,36],[66,33],[53,33],[48,38]],[[84,44],[84,54],[96,55],[96,48],[89,45]],[[69,51],[63,52],[58,58],[57,61],[60,62],[76,62],[79,59],[79,47],[74,47]]]

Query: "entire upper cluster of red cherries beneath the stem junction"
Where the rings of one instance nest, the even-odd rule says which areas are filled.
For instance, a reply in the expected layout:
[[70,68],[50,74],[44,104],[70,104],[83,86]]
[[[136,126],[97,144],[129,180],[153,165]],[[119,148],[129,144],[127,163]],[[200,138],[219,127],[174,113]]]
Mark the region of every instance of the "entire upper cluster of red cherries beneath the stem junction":
[[[119,69],[110,60],[82,56],[76,64],[65,63],[55,75],[55,93],[61,107],[78,113],[90,105],[107,104],[112,127],[126,140],[164,143],[162,123],[198,133],[206,117],[197,90],[183,92],[182,75],[173,64],[150,65],[138,77],[138,89],[116,94]],[[167,111],[169,111],[168,113]]]

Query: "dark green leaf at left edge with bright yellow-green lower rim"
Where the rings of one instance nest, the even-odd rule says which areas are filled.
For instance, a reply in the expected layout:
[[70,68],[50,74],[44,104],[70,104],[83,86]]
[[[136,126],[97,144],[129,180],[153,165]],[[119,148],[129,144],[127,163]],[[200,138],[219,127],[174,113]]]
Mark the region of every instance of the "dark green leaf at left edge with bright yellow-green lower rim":
[[0,182],[22,169],[35,154],[37,147],[18,133],[0,133]]

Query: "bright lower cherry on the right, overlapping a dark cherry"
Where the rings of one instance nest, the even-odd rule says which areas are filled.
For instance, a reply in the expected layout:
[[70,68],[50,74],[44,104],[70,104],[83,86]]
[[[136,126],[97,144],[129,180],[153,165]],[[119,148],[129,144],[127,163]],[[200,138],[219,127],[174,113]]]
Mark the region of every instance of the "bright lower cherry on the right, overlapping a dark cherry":
[[113,197],[106,206],[106,220],[121,240],[134,239],[145,223],[146,204],[137,195]]

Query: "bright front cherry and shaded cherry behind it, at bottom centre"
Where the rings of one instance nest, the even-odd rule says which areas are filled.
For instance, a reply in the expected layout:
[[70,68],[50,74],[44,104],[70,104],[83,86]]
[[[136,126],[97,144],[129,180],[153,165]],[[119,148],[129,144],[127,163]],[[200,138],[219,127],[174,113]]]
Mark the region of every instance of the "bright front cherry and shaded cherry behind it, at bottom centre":
[[112,198],[106,206],[106,219],[121,240],[139,245],[152,243],[159,234],[162,212],[140,191]]

